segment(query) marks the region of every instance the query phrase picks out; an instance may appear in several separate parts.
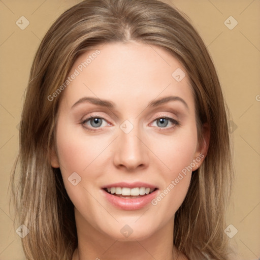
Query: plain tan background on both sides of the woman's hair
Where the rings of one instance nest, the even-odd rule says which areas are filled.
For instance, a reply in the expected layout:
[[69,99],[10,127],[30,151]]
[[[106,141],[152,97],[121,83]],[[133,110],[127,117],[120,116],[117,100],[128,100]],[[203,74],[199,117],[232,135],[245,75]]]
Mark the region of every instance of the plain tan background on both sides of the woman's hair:
[[[34,54],[54,20],[79,0],[0,0],[0,260],[25,259],[9,210],[10,171],[18,150],[21,104]],[[260,1],[172,0],[199,30],[233,115],[236,183],[228,224],[243,259],[260,257]],[[24,30],[16,21],[29,21]],[[224,21],[233,16],[230,30]],[[234,25],[234,20],[229,21]],[[229,26],[231,26],[229,25]],[[232,228],[233,229],[233,228]],[[223,231],[224,232],[224,231]],[[232,230],[234,232],[234,230]]]

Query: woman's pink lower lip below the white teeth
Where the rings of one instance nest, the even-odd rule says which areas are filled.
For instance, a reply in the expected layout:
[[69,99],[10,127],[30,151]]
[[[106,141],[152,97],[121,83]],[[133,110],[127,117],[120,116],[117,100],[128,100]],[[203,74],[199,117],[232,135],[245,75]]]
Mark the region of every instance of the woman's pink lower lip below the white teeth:
[[138,210],[145,207],[147,204],[151,203],[151,201],[156,197],[158,189],[153,191],[150,194],[147,194],[141,198],[134,199],[123,199],[117,196],[114,196],[104,189],[102,190],[106,199],[115,207],[122,210]]

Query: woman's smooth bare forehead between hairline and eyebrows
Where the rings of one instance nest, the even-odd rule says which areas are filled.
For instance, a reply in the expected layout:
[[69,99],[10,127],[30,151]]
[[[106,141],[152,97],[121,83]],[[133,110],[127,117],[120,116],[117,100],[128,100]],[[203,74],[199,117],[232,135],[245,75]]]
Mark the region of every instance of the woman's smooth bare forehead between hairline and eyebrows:
[[72,106],[80,98],[111,100],[131,108],[167,95],[193,106],[187,73],[164,49],[143,43],[106,43],[83,53],[68,76],[77,74],[62,93]]

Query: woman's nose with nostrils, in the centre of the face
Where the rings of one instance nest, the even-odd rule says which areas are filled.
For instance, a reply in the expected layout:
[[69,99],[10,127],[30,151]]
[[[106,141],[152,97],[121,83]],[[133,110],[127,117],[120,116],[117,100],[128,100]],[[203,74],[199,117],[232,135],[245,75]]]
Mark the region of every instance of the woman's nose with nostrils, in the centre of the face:
[[146,168],[149,162],[149,149],[145,141],[138,127],[134,127],[128,134],[119,129],[119,136],[114,144],[114,165],[117,168],[126,168],[128,171]]

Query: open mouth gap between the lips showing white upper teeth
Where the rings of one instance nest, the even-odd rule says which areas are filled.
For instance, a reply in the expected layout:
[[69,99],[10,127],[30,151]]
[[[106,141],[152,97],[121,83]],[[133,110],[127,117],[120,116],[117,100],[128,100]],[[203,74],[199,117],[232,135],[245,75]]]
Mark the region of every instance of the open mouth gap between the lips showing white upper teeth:
[[147,196],[157,190],[157,188],[149,187],[107,187],[103,188],[107,193],[123,198],[123,199],[137,199]]

